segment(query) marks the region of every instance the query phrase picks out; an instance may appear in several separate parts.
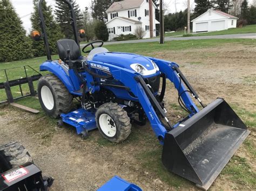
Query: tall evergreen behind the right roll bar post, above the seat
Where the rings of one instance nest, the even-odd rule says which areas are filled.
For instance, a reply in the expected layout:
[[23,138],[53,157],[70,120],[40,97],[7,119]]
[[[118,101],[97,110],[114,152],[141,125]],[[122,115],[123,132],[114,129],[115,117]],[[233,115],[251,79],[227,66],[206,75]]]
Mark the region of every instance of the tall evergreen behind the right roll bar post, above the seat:
[[[73,5],[73,9],[75,11],[76,23],[79,30],[83,26],[83,15],[79,9],[79,5],[77,4],[76,0],[73,0],[71,2]],[[65,37],[68,39],[73,39],[74,34],[73,34],[72,25],[71,25],[70,11],[69,11],[68,4],[66,4],[62,0],[56,0],[55,15],[56,15],[57,23],[59,24],[60,28],[64,32]]]

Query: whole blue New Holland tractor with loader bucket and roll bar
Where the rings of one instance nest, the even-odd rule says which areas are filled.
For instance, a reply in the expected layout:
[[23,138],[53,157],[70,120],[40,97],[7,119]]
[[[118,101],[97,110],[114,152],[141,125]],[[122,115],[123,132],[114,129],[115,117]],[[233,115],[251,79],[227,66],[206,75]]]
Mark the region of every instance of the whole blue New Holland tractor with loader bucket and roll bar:
[[[38,9],[48,60],[40,70],[52,73],[38,83],[39,101],[46,114],[60,116],[60,126],[74,126],[84,138],[88,131],[98,128],[103,137],[114,143],[129,136],[132,122],[145,125],[147,118],[163,144],[165,167],[208,189],[250,133],[224,99],[217,98],[205,106],[174,62],[109,52],[99,40],[87,44],[82,51],[89,55],[82,56],[75,13],[68,0],[64,2],[70,8],[75,40],[57,41],[60,60],[52,61],[42,2]],[[92,49],[86,51],[89,46]],[[166,80],[174,84],[178,102],[188,112],[176,124],[166,116]],[[80,102],[77,110],[72,110],[73,98]],[[203,109],[199,110],[192,98]]]

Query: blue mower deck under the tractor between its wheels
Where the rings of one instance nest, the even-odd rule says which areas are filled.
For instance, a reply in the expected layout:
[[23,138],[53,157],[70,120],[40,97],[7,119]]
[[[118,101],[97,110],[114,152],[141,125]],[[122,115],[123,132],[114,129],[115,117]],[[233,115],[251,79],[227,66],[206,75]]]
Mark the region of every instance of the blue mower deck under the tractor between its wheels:
[[77,134],[82,134],[83,131],[96,129],[95,113],[85,109],[78,109],[69,112],[68,114],[60,115],[62,121],[76,128]]

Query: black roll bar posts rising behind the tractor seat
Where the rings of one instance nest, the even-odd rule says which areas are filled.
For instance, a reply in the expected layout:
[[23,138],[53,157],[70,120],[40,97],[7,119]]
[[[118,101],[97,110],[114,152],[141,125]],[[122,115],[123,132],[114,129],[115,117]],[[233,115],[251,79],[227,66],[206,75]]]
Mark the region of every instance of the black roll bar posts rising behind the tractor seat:
[[[37,4],[37,9],[38,9],[38,12],[39,12],[40,26],[41,26],[42,33],[43,33],[42,37],[44,39],[44,45],[45,45],[45,50],[46,50],[46,54],[47,54],[47,60],[51,61],[51,51],[50,51],[50,46],[49,46],[49,41],[48,41],[48,35],[46,33],[46,25],[45,25],[44,16],[43,16],[43,10],[42,10],[43,1],[44,0],[39,0],[39,2]],[[78,47],[80,47],[79,40],[78,40],[76,15],[75,15],[75,11],[73,9],[73,5],[70,2],[70,0],[63,0],[63,2],[65,2],[66,4],[69,5],[69,11],[70,11],[70,16],[71,16],[71,20],[72,20],[71,25],[72,25],[72,28],[73,28],[75,41],[76,41]],[[80,51],[80,49],[79,49],[79,51]],[[80,51],[80,55],[81,55],[81,51]]]

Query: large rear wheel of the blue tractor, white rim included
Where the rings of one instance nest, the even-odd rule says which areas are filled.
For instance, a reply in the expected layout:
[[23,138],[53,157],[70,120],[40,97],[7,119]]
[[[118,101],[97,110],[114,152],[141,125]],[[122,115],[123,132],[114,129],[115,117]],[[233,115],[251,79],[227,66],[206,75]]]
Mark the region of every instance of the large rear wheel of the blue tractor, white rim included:
[[42,76],[38,82],[38,98],[47,115],[58,118],[72,109],[73,96],[53,74]]

